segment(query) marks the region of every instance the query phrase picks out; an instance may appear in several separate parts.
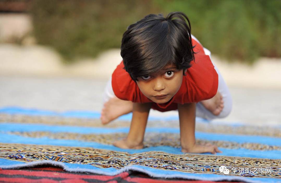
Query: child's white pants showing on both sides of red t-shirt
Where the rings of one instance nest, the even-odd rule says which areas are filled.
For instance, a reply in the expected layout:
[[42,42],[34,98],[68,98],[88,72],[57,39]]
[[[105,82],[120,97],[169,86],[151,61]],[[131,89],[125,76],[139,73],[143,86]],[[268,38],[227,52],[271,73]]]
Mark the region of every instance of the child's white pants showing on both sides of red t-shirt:
[[[204,48],[204,52],[206,55],[209,55],[211,58],[211,52],[208,49]],[[217,91],[219,93],[221,93],[221,95],[223,97],[224,107],[223,107],[223,110],[221,111],[221,113],[219,115],[215,116],[208,109],[206,109],[201,104],[201,102],[198,102],[196,104],[196,116],[205,118],[207,120],[212,120],[215,118],[224,118],[229,115],[229,113],[232,109],[232,98],[231,98],[230,92],[228,90],[228,87],[226,86],[226,83],[223,80],[223,77],[221,76],[219,70],[217,69],[217,66],[214,63],[213,63],[213,65],[215,67],[215,70],[217,71],[218,79],[219,79]],[[103,94],[103,101],[107,102],[109,99],[111,99],[113,97],[115,97],[115,95],[114,95],[114,92],[112,89],[111,77],[110,77],[110,79],[107,82],[106,87],[105,87],[105,91]]]

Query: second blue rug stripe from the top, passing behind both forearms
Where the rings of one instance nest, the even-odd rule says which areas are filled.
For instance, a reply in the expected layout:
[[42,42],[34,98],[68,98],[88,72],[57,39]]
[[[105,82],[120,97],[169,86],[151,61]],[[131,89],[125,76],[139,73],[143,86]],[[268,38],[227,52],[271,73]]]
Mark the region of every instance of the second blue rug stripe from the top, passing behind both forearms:
[[[0,132],[70,132],[80,134],[103,134],[103,133],[127,133],[129,128],[94,128],[77,126],[52,126],[41,124],[0,123]],[[179,133],[178,128],[147,128],[146,132]],[[237,143],[260,143],[266,145],[281,146],[281,138],[268,136],[238,135],[238,134],[216,134],[206,132],[195,132],[196,138],[208,140],[223,140]]]

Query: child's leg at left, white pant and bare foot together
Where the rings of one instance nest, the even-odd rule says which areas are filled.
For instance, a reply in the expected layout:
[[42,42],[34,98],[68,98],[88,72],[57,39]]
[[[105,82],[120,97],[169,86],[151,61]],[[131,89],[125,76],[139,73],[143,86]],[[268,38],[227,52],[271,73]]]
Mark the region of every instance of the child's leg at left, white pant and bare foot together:
[[103,124],[109,123],[112,120],[128,114],[133,110],[133,102],[118,99],[112,90],[111,78],[106,84],[105,92],[103,94],[103,109],[101,111],[101,122]]

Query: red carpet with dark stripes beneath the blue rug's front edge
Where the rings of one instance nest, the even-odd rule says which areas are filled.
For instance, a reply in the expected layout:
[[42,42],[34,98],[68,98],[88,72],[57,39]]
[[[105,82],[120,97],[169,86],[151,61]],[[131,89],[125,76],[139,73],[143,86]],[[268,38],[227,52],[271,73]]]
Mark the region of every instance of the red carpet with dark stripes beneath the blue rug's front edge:
[[[148,175],[128,171],[115,176],[95,175],[88,173],[70,173],[62,168],[38,167],[24,168],[20,170],[0,169],[0,182],[19,182],[19,183],[88,183],[88,182],[107,182],[107,183],[214,183],[213,181],[183,180],[183,179],[158,179]],[[220,182],[224,183],[224,182]],[[236,182],[238,183],[238,182]]]

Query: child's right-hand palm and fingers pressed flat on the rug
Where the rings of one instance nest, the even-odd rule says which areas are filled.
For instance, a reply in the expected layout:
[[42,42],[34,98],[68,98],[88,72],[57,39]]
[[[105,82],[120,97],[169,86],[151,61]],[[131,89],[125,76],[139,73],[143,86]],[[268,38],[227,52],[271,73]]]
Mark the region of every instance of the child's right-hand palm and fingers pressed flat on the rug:
[[186,153],[205,153],[205,152],[210,152],[212,154],[216,154],[217,152],[222,153],[216,145],[212,145],[211,143],[207,143],[205,145],[200,145],[200,144],[195,144],[192,148],[183,149],[182,152]]

